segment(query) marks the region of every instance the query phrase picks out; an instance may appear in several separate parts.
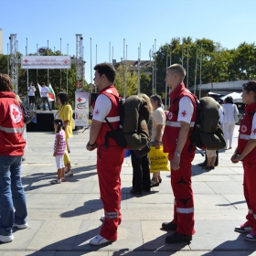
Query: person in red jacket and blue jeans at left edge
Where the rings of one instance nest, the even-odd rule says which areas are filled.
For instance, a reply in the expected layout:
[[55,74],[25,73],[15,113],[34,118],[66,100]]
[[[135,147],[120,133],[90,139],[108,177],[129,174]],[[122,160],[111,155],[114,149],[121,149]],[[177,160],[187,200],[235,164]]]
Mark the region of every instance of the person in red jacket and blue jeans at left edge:
[[26,141],[24,114],[12,80],[0,73],[0,241],[14,239],[13,229],[27,228],[26,195],[21,162]]

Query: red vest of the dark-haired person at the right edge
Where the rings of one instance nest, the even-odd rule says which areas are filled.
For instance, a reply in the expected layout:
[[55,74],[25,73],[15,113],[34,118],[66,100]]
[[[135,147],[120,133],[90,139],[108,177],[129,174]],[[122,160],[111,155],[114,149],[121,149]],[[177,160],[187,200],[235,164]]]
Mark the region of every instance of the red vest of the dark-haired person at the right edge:
[[[240,122],[240,134],[239,134],[239,144],[238,144],[238,154],[241,154],[245,148],[245,145],[250,140],[251,129],[253,133],[256,133],[256,127],[252,126],[253,115],[256,112],[256,102],[245,106],[245,114],[243,115]],[[244,157],[242,161],[247,163],[255,163],[256,159],[256,147],[254,147],[251,152]]]

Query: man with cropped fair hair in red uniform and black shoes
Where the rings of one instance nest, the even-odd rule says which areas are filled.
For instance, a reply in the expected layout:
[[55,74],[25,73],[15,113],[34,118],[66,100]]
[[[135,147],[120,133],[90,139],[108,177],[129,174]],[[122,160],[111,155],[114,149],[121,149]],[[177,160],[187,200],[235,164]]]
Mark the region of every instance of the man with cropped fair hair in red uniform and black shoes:
[[189,151],[189,131],[196,121],[197,105],[194,95],[185,88],[185,69],[174,64],[166,70],[170,93],[170,108],[163,135],[164,152],[169,153],[171,163],[171,185],[174,192],[174,219],[164,222],[162,229],[176,230],[165,238],[167,243],[192,240],[194,229],[194,197],[192,190],[192,161],[196,147]]

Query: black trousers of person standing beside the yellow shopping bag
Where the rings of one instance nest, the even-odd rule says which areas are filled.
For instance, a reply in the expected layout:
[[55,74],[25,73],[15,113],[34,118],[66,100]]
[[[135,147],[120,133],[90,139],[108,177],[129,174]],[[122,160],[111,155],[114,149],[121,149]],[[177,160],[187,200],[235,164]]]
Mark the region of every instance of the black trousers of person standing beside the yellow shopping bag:
[[136,158],[131,151],[132,165],[133,165],[133,190],[136,192],[143,192],[143,190],[150,190],[151,180],[149,173],[149,160],[147,155],[142,158]]

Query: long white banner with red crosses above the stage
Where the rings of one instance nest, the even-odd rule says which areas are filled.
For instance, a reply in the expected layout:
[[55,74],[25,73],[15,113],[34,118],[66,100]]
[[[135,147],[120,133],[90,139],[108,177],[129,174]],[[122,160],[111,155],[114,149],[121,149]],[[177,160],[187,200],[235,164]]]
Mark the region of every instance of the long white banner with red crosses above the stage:
[[70,56],[22,56],[21,69],[70,69]]

